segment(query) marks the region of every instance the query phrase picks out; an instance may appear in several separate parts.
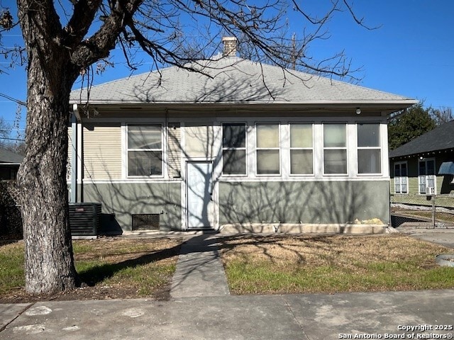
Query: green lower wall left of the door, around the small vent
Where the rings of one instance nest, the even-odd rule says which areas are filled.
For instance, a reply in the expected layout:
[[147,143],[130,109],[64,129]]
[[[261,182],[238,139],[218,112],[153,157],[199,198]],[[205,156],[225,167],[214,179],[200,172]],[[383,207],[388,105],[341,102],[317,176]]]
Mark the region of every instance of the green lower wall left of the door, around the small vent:
[[104,232],[131,230],[133,214],[160,214],[160,229],[181,229],[181,183],[84,184],[84,202],[102,204]]

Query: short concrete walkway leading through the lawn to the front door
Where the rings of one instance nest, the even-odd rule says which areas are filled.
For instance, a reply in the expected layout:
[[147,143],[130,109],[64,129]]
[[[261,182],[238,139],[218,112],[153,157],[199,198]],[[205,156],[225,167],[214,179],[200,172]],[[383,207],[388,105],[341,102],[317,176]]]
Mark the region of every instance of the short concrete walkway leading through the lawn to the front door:
[[184,242],[172,278],[171,297],[229,294],[217,245],[213,234],[196,235]]

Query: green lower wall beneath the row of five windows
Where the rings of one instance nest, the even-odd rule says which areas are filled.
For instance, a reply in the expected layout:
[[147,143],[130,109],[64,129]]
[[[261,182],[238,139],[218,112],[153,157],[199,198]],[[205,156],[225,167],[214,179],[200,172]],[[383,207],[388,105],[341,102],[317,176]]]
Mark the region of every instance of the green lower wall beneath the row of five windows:
[[219,224],[389,224],[389,181],[221,182]]

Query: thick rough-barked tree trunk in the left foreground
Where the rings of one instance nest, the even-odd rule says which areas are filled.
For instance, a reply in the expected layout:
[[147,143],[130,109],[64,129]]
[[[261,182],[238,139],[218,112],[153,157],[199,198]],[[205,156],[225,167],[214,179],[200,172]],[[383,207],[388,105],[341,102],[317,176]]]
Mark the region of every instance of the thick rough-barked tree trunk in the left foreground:
[[18,1],[28,57],[26,154],[18,185],[26,291],[33,295],[71,290],[78,283],[66,183],[69,99],[78,73],[58,40],[57,16],[41,8],[50,4]]

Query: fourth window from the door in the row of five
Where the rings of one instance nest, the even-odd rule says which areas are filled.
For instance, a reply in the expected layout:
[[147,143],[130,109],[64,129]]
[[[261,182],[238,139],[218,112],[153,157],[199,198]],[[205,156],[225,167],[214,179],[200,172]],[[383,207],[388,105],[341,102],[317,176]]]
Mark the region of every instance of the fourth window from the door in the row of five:
[[347,174],[347,125],[323,124],[323,173]]

